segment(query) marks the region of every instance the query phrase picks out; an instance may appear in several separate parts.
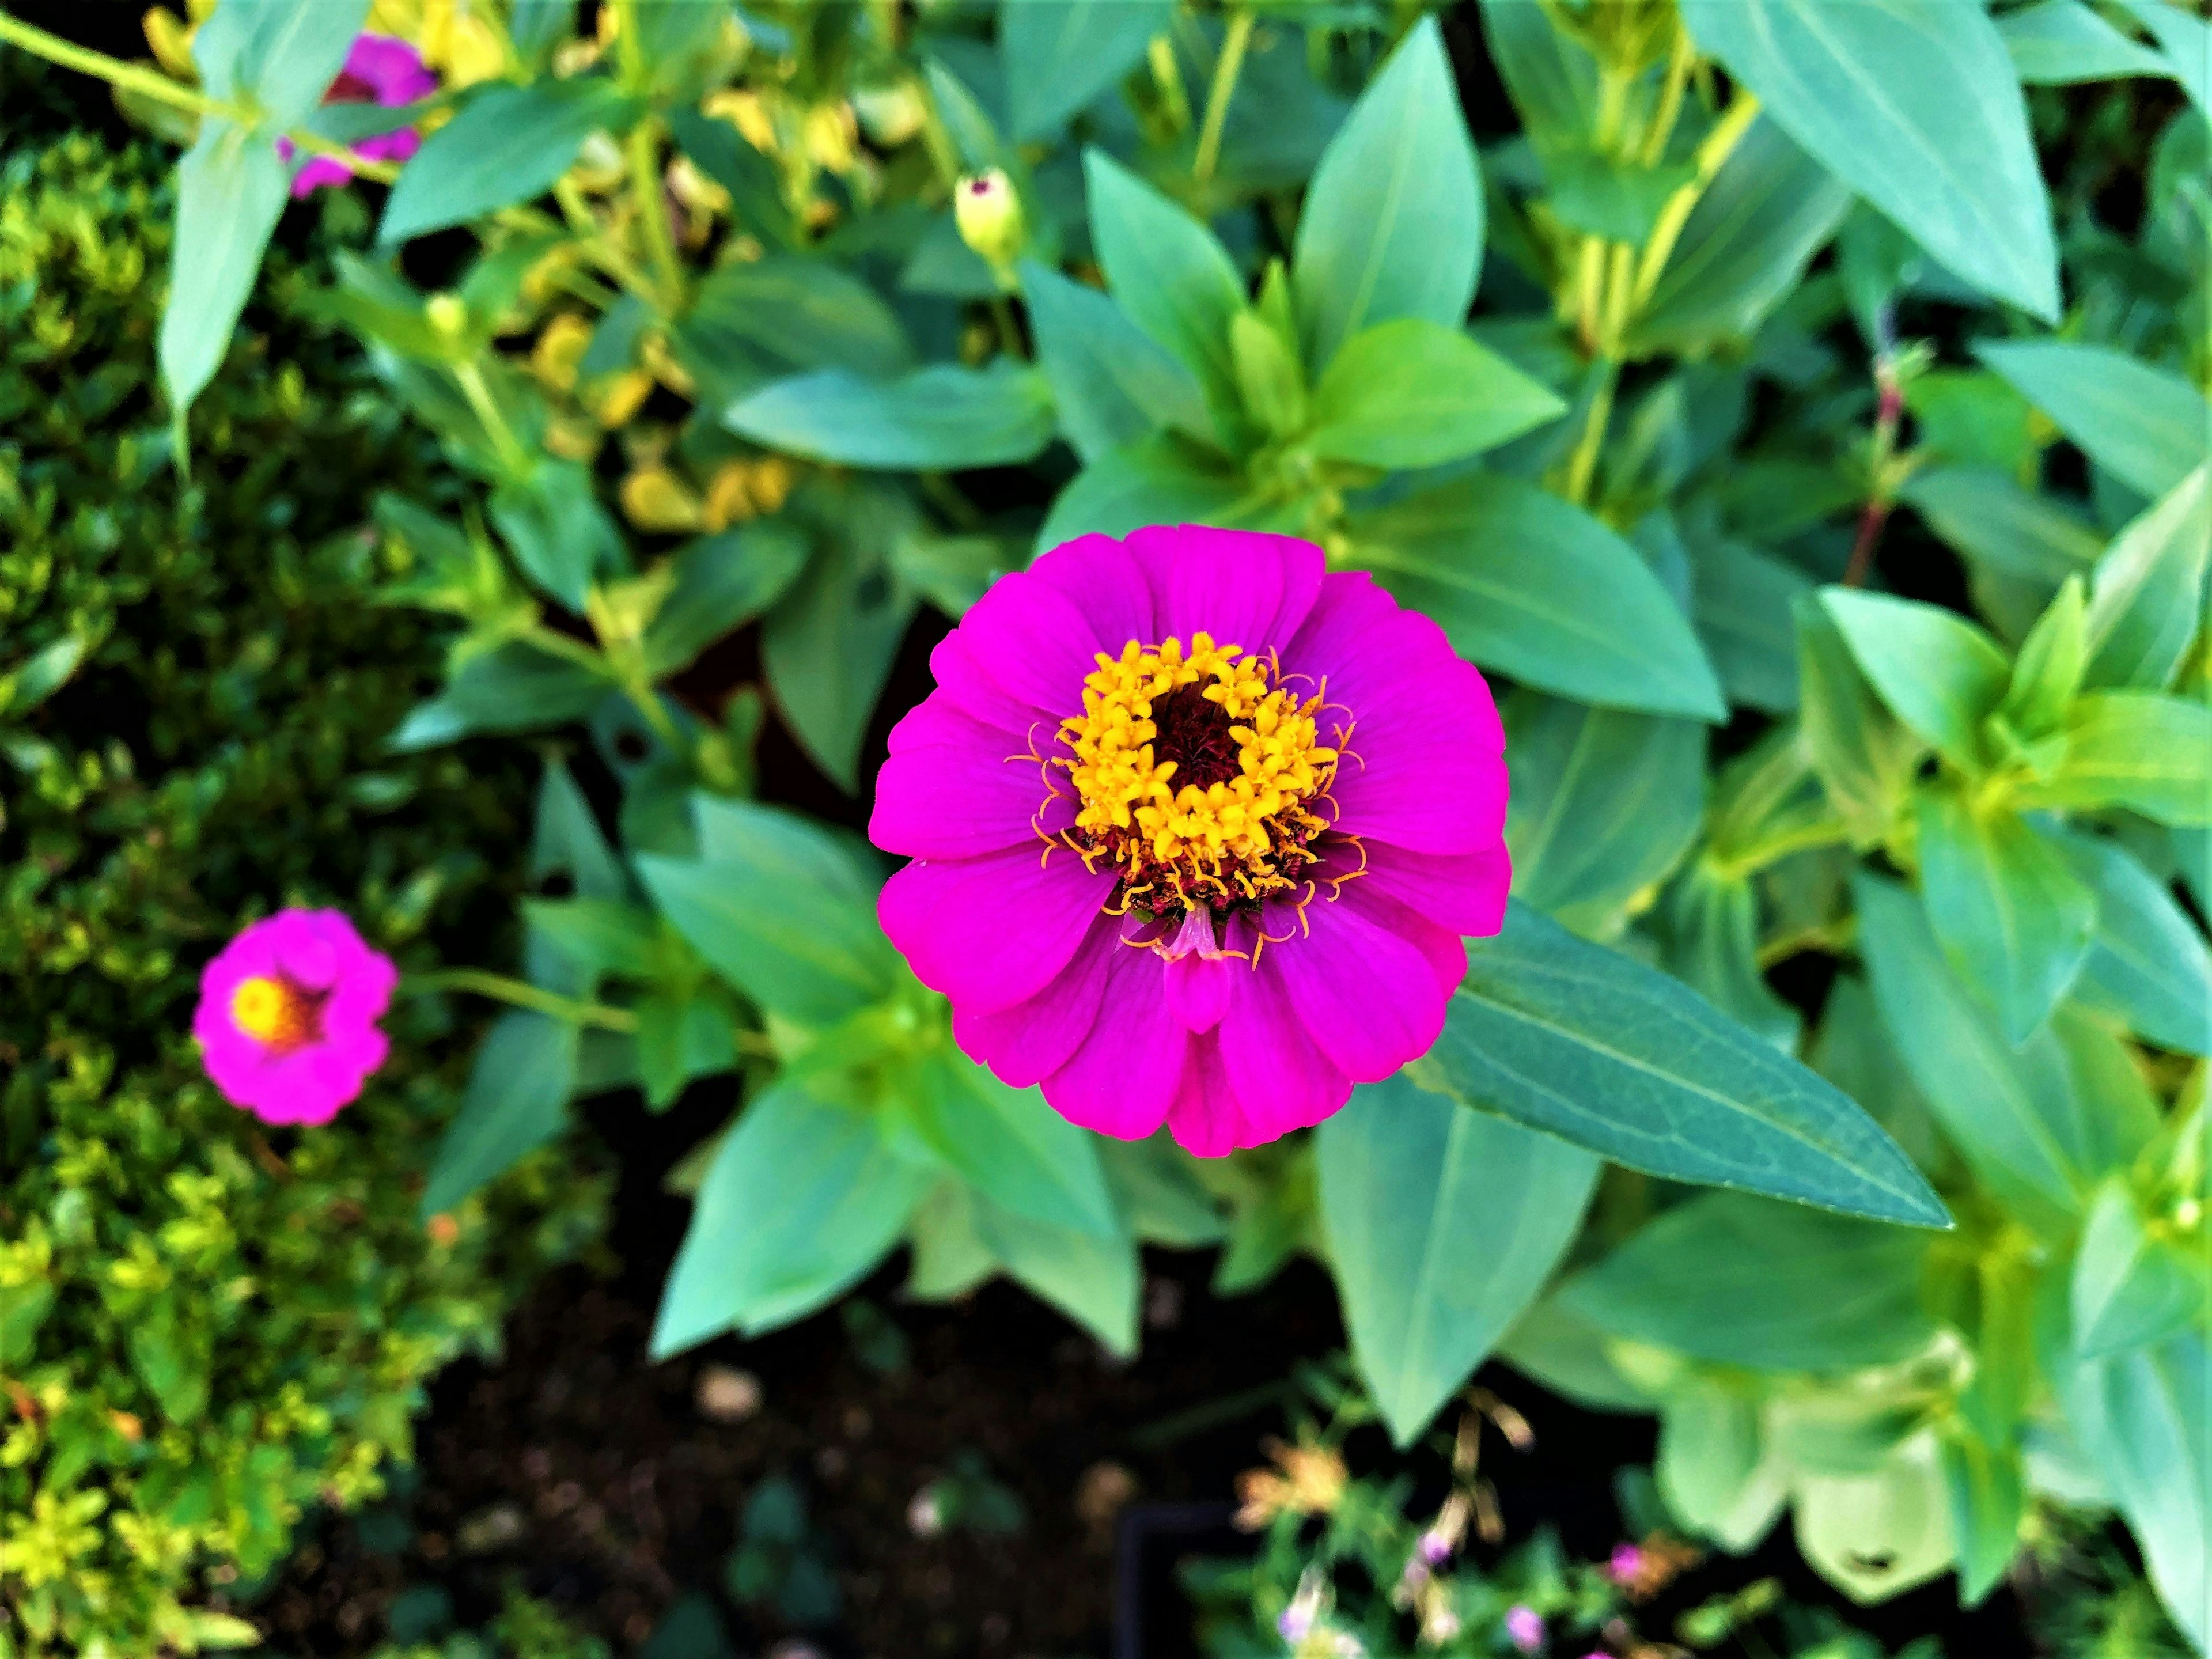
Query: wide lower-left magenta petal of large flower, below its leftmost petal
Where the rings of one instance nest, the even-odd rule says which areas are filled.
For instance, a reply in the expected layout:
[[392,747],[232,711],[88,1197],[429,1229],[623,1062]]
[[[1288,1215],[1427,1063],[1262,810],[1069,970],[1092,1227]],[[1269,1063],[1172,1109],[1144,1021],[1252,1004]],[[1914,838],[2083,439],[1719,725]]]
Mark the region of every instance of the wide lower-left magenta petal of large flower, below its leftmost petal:
[[1113,872],[1091,874],[1064,847],[916,860],[883,885],[876,916],[922,984],[989,1013],[1035,995],[1068,964],[1113,883]]

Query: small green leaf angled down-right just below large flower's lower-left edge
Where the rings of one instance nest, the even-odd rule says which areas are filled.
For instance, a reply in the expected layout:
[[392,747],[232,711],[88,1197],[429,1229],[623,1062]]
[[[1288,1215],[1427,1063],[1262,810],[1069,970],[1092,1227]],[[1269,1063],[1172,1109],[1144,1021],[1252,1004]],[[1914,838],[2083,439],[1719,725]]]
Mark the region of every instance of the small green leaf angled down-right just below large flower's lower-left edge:
[[1009,1088],[953,1048],[936,1048],[900,1079],[922,1137],[1002,1210],[1099,1239],[1121,1232],[1097,1137],[1035,1088]]

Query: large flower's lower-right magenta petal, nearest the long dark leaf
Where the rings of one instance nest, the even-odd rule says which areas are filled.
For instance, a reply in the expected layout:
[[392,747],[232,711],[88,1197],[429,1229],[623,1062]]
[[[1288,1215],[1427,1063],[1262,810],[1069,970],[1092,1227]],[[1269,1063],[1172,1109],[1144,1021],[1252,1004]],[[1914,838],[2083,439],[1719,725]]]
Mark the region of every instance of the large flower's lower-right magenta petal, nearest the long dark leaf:
[[1298,1020],[1358,1084],[1425,1055],[1444,1029],[1447,987],[1429,951],[1385,920],[1402,922],[1407,914],[1387,900],[1363,905],[1358,883],[1349,883],[1334,905],[1305,907],[1310,933],[1267,947]]

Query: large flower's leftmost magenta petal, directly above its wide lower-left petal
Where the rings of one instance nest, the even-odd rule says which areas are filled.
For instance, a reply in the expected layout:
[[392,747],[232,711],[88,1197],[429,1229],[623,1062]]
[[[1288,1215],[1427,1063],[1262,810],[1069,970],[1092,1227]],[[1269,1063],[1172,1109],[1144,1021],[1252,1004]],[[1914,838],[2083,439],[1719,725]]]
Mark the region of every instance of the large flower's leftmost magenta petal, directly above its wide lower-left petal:
[[1011,754],[1004,732],[940,712],[929,734],[942,741],[902,743],[876,772],[867,838],[885,852],[973,858],[1026,843],[1042,854],[1040,832],[1075,823],[1066,774]]

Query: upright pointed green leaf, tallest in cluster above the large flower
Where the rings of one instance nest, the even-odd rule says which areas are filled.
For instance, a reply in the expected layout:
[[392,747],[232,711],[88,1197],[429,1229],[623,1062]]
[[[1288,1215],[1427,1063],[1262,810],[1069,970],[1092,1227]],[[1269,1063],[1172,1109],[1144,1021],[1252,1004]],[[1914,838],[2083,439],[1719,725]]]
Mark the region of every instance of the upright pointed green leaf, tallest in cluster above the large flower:
[[1460,327],[1480,274],[1482,170],[1442,31],[1422,18],[1305,190],[1292,288],[1307,365],[1325,369],[1345,341],[1396,316]]

